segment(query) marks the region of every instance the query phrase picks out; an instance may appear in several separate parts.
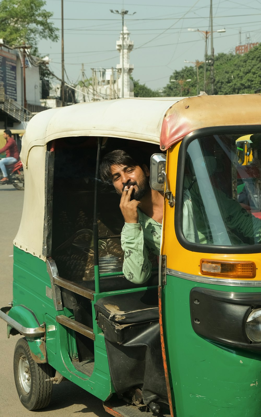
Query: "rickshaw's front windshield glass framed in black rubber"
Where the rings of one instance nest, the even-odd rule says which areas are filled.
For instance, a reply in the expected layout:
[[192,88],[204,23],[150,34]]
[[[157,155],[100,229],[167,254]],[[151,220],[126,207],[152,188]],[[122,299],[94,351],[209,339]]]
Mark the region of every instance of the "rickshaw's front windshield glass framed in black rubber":
[[251,136],[253,159],[238,162],[241,135],[192,140],[183,181],[183,235],[192,243],[215,246],[261,243],[261,135]]

